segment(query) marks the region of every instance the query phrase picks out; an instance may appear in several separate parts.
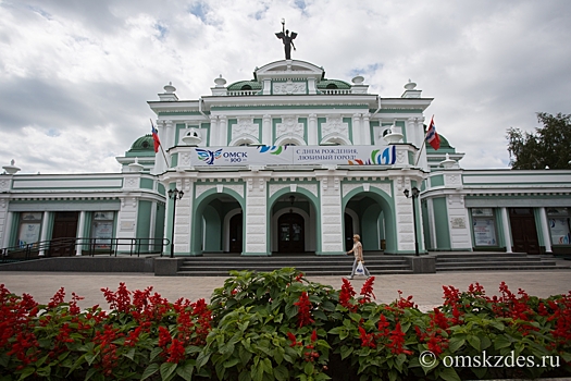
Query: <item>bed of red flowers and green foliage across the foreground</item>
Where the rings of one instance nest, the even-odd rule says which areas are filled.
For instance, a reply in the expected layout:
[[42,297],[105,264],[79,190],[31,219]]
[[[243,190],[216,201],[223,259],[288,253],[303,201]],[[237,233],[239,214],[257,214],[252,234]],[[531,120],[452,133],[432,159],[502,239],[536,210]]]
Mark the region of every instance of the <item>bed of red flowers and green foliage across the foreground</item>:
[[[308,282],[294,269],[233,272],[203,300],[174,304],[150,287],[103,290],[80,311],[63,288],[48,305],[0,286],[0,381],[447,380],[571,374],[571,293],[546,299],[505,283],[444,288],[420,311],[411,296],[372,300]],[[131,298],[133,296],[133,299]],[[427,355],[427,357],[426,357]],[[501,362],[498,366],[497,359]],[[547,359],[547,361],[545,360]]]

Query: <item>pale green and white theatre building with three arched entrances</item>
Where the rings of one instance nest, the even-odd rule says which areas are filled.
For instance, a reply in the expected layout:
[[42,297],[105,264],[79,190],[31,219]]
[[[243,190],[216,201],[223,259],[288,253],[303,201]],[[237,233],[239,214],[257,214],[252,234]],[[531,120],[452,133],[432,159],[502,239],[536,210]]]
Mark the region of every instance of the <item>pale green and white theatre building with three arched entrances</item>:
[[569,253],[571,171],[464,170],[444,136],[438,150],[423,145],[431,102],[411,82],[385,98],[297,60],[215,78],[199,99],[170,84],[148,102],[162,149],[140,137],[122,172],[7,165],[0,243],[174,236],[176,256],[321,256],[358,233],[364,250],[390,255]]

